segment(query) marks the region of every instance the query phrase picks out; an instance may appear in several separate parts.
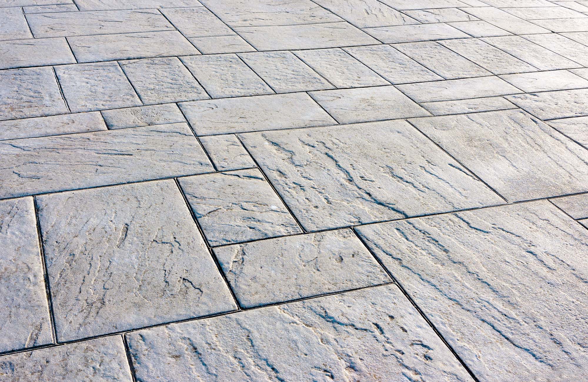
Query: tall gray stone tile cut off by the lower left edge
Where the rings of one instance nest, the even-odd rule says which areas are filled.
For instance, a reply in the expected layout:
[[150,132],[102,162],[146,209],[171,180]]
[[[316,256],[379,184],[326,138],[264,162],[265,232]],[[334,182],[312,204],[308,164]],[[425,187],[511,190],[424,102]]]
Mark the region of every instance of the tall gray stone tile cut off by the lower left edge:
[[0,201],[0,247],[0,352],[52,343],[32,197]]

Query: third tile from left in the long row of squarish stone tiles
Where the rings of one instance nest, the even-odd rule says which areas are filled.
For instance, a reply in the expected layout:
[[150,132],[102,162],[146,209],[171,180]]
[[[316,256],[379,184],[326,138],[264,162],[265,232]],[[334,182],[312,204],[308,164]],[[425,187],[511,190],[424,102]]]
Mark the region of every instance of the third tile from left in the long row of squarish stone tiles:
[[209,98],[177,57],[145,58],[120,64],[145,105]]

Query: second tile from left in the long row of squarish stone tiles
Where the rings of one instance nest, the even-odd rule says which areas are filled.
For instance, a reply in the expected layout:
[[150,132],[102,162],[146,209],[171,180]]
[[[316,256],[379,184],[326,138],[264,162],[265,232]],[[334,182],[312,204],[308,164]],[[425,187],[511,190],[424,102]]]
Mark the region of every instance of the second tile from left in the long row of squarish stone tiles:
[[72,112],[142,105],[116,62],[57,66],[55,73]]

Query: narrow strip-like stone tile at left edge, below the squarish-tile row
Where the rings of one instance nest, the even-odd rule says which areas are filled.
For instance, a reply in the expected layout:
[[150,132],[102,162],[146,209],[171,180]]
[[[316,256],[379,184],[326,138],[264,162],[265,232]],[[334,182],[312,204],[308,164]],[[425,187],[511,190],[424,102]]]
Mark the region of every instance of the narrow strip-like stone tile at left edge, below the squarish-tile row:
[[99,112],[0,121],[0,140],[106,130]]

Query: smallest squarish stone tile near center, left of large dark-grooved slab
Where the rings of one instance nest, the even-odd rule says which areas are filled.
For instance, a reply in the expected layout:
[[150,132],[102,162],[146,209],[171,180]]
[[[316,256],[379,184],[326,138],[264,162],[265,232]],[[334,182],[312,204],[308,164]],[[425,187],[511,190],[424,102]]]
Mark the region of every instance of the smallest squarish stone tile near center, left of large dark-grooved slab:
[[255,167],[255,162],[233,134],[203,136],[200,142],[219,171]]

